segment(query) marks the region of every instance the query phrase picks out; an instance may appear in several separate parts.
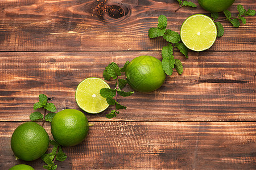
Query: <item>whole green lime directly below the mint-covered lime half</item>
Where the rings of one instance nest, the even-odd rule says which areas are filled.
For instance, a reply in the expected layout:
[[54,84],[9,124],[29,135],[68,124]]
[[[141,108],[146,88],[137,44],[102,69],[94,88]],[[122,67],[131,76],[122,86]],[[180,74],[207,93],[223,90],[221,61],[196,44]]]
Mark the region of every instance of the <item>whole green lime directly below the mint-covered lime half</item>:
[[75,146],[84,141],[89,124],[84,113],[76,109],[64,109],[52,118],[51,133],[62,146]]

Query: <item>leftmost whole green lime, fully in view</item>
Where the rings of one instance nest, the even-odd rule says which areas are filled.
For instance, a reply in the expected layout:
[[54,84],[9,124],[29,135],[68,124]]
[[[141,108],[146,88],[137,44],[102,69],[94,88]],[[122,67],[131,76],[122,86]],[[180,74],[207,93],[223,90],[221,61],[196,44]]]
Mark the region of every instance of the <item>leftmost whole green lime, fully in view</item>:
[[18,159],[31,161],[40,158],[49,146],[49,135],[35,122],[26,122],[14,130],[11,149]]

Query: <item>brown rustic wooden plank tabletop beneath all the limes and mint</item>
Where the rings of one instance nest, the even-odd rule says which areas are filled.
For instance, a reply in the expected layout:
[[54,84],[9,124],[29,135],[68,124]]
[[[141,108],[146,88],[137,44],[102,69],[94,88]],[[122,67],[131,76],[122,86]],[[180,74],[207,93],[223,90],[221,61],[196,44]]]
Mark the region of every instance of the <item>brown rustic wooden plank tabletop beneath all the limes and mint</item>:
[[[210,16],[192,2],[197,8],[175,12],[175,0],[1,1],[0,169],[46,165],[15,160],[10,147],[39,94],[52,97],[57,111],[81,111],[75,91],[83,79],[103,78],[110,62],[161,59],[167,42],[147,35],[159,15],[177,32],[192,14]],[[238,4],[256,10],[254,0],[237,0],[229,8],[233,15]],[[184,73],[174,71],[154,92],[119,97],[127,109],[117,117],[105,117],[112,107],[84,112],[95,125],[80,145],[63,148],[68,158],[56,162],[57,169],[255,169],[256,18],[246,21],[240,28],[222,22],[224,36],[204,52],[189,50],[188,59],[175,48]],[[108,83],[114,87],[113,80]],[[50,124],[44,128],[52,139]]]

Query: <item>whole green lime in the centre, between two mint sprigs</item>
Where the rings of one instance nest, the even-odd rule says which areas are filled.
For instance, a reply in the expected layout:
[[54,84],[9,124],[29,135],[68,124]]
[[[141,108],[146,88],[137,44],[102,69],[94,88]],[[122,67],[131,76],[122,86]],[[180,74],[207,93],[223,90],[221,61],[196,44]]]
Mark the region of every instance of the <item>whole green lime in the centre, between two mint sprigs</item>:
[[151,92],[162,86],[166,79],[162,62],[152,56],[134,58],[125,71],[127,83],[136,91]]

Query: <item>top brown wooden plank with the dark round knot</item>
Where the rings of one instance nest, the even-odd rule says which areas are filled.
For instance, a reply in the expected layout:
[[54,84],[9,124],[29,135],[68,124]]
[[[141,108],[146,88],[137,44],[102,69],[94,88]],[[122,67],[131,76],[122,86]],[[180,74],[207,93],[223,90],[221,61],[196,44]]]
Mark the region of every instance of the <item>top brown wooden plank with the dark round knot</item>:
[[[0,51],[160,50],[166,41],[147,36],[159,15],[166,15],[168,29],[177,32],[192,14],[210,16],[193,2],[197,8],[183,7],[175,12],[175,0],[1,1]],[[229,8],[233,15],[237,15],[238,4],[256,8],[254,0],[237,0]],[[255,51],[255,17],[247,16],[246,22],[240,28],[222,23],[225,34],[209,50]]]

